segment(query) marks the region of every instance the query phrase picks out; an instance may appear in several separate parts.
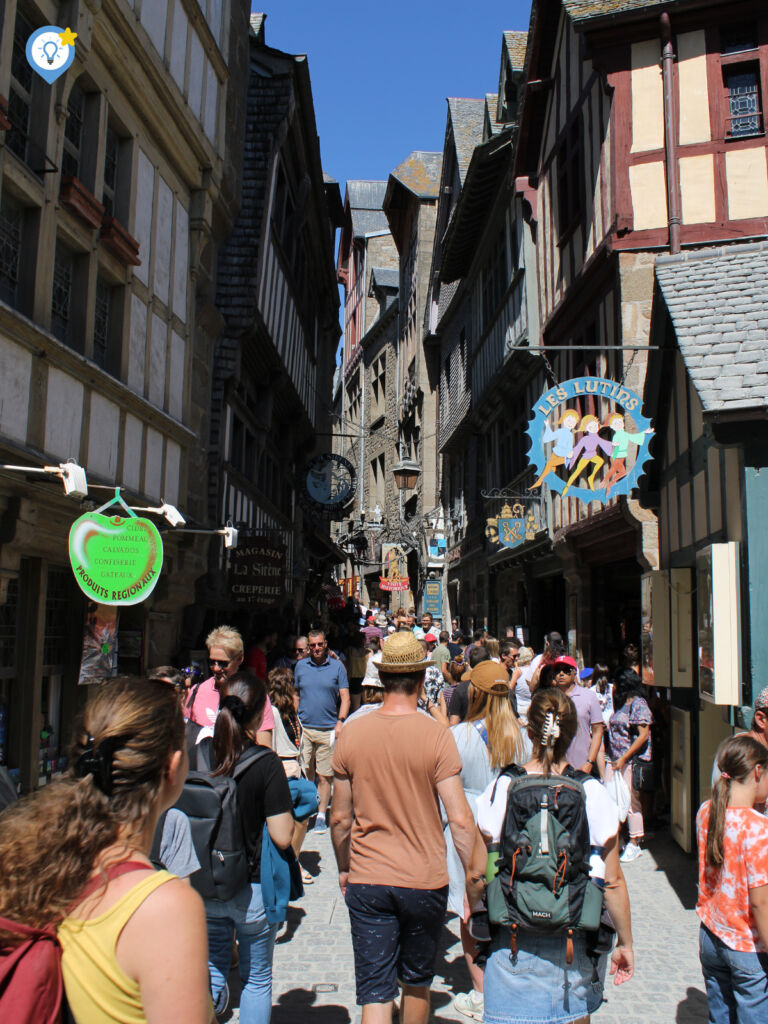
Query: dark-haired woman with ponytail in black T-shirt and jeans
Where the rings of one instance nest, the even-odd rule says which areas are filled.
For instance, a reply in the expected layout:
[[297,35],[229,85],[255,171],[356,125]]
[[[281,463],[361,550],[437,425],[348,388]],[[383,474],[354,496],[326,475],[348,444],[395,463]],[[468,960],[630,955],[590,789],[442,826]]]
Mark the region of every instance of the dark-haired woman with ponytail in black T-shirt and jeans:
[[[237,672],[221,687],[213,731],[213,775],[233,775],[240,759],[258,745],[266,706],[262,680]],[[238,777],[238,806],[243,818],[250,882],[230,900],[206,900],[208,967],[216,1012],[228,1001],[232,939],[238,933],[241,1024],[268,1024],[272,1009],[272,952],[278,926],[266,919],[261,895],[261,844],[266,824],[269,838],[281,850],[291,845],[294,833],[293,801],[288,779],[276,754],[266,751]]]

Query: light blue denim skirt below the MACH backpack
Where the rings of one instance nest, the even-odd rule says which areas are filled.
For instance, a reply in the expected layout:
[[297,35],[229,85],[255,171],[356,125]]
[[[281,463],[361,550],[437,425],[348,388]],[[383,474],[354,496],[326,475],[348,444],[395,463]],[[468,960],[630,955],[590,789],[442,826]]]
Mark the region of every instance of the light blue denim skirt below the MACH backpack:
[[587,954],[583,934],[573,936],[573,962],[565,963],[565,935],[520,932],[517,956],[510,933],[499,929],[485,965],[483,1024],[570,1024],[602,1002],[606,957]]

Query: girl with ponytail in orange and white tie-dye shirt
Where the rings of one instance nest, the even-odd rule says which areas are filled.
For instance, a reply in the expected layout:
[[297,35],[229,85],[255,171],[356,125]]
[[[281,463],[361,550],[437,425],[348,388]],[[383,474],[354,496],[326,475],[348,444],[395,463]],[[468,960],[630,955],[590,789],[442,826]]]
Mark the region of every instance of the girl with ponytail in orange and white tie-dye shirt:
[[696,815],[698,952],[712,1024],[768,1021],[768,750],[748,734],[717,754],[720,778]]

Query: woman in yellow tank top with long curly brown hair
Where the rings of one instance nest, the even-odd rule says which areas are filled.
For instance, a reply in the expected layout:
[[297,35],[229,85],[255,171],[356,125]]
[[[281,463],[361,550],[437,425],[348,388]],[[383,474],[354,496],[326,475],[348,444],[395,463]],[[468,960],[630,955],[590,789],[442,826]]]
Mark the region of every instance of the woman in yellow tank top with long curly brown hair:
[[88,701],[67,778],[3,815],[0,916],[57,925],[77,1024],[210,1024],[203,902],[148,859],[186,776],[165,683],[119,679]]

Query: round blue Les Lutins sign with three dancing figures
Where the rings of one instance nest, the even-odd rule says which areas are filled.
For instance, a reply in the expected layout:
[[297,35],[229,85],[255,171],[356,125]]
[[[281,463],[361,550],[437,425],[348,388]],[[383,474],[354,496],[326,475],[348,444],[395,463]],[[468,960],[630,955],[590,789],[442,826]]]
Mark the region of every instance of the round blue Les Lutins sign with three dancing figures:
[[629,495],[650,458],[653,434],[642,399],[602,377],[577,377],[546,391],[528,426],[531,490],[605,502]]

